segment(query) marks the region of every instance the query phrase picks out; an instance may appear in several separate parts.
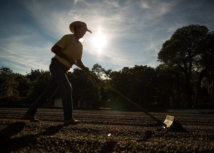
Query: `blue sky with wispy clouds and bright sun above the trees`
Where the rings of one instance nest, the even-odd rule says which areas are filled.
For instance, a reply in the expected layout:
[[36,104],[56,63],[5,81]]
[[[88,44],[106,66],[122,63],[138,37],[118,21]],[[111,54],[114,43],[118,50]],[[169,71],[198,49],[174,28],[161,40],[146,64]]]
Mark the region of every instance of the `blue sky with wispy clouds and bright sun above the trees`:
[[[190,24],[214,31],[213,0],[1,0],[0,67],[26,75],[49,70],[51,47],[83,21],[83,63],[106,70],[147,65],[173,33]],[[77,67],[72,67],[71,71]]]

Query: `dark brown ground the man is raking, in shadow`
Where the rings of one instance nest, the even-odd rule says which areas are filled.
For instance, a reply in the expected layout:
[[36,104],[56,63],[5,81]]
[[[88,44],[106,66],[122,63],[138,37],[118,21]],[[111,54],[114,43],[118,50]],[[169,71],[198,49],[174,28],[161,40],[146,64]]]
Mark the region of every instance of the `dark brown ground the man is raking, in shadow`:
[[143,112],[39,109],[39,123],[22,120],[26,108],[0,108],[0,152],[214,152],[214,114],[173,115],[188,132],[164,130]]

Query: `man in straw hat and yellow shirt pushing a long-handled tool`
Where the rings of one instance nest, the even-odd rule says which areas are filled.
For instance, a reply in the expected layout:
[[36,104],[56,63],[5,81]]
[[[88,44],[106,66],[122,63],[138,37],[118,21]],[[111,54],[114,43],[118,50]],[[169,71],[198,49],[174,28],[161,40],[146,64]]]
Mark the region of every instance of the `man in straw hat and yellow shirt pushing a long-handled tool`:
[[51,51],[56,54],[54,58],[52,58],[52,62],[50,64],[50,72],[52,77],[45,91],[30,106],[24,115],[24,119],[38,122],[38,120],[34,117],[37,109],[59,88],[61,91],[63,104],[64,124],[76,124],[79,122],[72,116],[72,86],[67,78],[67,72],[73,64],[75,64],[87,74],[90,73],[89,68],[86,67],[81,60],[83,47],[79,39],[85,35],[86,31],[90,33],[92,32],[87,28],[87,25],[84,22],[80,21],[71,23],[70,31],[73,34],[64,35],[51,48]]

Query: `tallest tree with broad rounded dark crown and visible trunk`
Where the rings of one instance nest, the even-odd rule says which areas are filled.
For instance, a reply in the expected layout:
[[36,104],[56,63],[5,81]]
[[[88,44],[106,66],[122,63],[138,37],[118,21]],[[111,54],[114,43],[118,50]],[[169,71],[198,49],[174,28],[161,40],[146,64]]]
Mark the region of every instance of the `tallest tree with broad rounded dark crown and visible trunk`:
[[160,62],[168,67],[177,67],[184,74],[186,101],[189,108],[193,105],[194,95],[191,83],[192,72],[204,55],[200,50],[200,42],[206,38],[207,34],[208,29],[205,26],[189,25],[180,28],[163,44],[158,53]]

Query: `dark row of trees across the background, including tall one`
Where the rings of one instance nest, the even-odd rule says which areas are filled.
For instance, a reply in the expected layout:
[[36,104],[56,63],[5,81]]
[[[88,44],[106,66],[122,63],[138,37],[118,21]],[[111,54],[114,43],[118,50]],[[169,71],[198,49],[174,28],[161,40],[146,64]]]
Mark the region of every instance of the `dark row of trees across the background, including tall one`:
[[[100,80],[112,86],[144,108],[211,108],[214,106],[214,32],[200,25],[179,28],[166,40],[158,53],[160,65],[124,67],[105,70],[95,64],[91,69]],[[45,89],[49,71],[31,70],[26,75],[0,68],[0,103],[32,103]],[[132,109],[82,70],[68,73],[74,106],[79,99],[91,100],[93,108]],[[49,100],[49,104],[60,91]],[[133,108],[134,109],[134,108]]]

